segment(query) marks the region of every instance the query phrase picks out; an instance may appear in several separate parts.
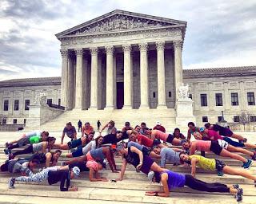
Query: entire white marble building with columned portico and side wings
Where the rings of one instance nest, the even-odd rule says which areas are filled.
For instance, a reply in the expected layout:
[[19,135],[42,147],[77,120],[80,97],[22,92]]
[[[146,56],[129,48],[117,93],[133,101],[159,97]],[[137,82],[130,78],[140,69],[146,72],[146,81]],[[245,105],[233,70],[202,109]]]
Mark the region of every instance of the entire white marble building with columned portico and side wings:
[[153,125],[159,116],[174,128],[182,83],[190,86],[198,125],[218,122],[222,112],[229,123],[242,112],[256,122],[256,66],[182,70],[185,32],[186,22],[114,10],[58,33],[62,77],[0,81],[1,122],[26,124],[30,105],[44,92],[48,104],[67,110],[59,123],[93,120],[100,110],[97,117],[106,113],[106,120],[138,118]]

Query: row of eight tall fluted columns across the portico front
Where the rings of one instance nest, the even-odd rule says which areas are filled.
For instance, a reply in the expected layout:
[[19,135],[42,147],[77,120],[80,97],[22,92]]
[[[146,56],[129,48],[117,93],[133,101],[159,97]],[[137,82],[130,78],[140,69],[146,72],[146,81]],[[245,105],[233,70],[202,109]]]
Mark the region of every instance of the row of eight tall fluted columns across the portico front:
[[[182,84],[182,41],[174,41],[174,85],[175,91],[178,93],[178,87]],[[138,44],[140,50],[140,90],[141,104],[140,108],[149,108],[149,81],[148,81],[148,61],[147,50],[148,44]],[[106,108],[115,108],[114,83],[116,77],[114,70],[114,46],[109,45],[106,49]],[[131,45],[122,45],[124,54],[124,106],[130,109],[133,105],[133,68]],[[164,49],[165,41],[156,42],[157,49],[157,76],[158,76],[158,108],[166,108],[166,79],[165,79],[165,59]],[[71,69],[70,58],[67,50],[61,50],[62,53],[62,105],[66,108],[72,108],[72,100],[74,100],[74,108],[83,108],[83,50],[75,49],[76,54],[76,70]],[[98,104],[98,48],[91,47],[91,76],[90,76],[90,109],[97,109]],[[75,73],[75,92],[74,87]],[[74,93],[73,93],[74,92]],[[74,98],[74,99],[73,99]]]

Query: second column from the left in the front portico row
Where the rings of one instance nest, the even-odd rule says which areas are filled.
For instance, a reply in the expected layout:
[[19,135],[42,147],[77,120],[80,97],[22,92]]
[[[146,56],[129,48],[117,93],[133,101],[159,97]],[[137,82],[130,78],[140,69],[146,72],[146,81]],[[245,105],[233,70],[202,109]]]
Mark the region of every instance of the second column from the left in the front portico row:
[[77,65],[76,65],[76,83],[75,83],[75,104],[74,108],[82,109],[83,104],[83,91],[82,91],[82,81],[83,81],[83,69],[82,69],[82,49],[75,49],[75,54],[77,57]]

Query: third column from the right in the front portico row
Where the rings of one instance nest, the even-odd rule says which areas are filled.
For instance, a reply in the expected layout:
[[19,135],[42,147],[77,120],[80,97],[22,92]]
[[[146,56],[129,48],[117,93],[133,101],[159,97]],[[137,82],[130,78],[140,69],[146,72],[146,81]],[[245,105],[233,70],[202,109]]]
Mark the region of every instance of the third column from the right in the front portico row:
[[140,87],[141,87],[141,105],[139,108],[149,107],[149,81],[148,81],[148,62],[147,62],[147,43],[138,45],[140,50]]

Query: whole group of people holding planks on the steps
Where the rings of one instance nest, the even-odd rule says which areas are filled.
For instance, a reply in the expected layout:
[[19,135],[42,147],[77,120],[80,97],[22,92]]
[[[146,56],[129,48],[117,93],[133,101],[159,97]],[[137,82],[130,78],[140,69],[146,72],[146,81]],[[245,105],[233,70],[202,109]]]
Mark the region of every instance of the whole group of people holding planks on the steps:
[[[106,135],[103,136],[104,129],[106,129]],[[62,191],[76,191],[78,187],[70,186],[70,179],[78,177],[81,171],[89,171],[91,182],[106,182],[108,179],[101,177],[98,171],[106,168],[108,163],[111,171],[118,173],[114,155],[121,155],[120,176],[115,181],[121,181],[124,178],[126,165],[130,163],[136,171],[148,175],[150,182],[162,183],[163,190],[147,191],[148,196],[168,197],[170,190],[189,186],[194,190],[227,192],[234,194],[237,201],[242,201],[243,190],[238,184],[208,183],[195,179],[196,167],[216,171],[219,176],[224,173],[241,175],[256,182],[256,176],[248,171],[230,167],[220,159],[205,157],[206,151],[212,151],[216,155],[242,162],[244,169],[250,168],[252,160],[256,159],[255,151],[249,151],[243,147],[256,148],[256,145],[247,143],[245,138],[234,134],[229,128],[223,128],[218,124],[205,124],[204,128],[199,128],[190,122],[187,137],[182,135],[178,128],[174,129],[173,134],[165,131],[166,129],[159,122],[153,129],[147,128],[145,123],[131,128],[130,123],[126,122],[122,131],[118,131],[114,127],[114,121],[111,120],[94,138],[94,128],[87,122],[82,128],[81,137],[77,139],[74,126],[67,123],[63,130],[61,143],[55,143],[56,139],[49,136],[47,131],[34,131],[22,135],[18,140],[6,143],[4,151],[9,155],[9,159],[2,164],[1,171],[22,174],[20,177],[9,179],[9,188],[14,188],[15,182],[48,180],[50,185],[60,182]],[[65,135],[71,139],[70,142],[63,143]],[[194,141],[190,141],[191,135],[194,136]],[[238,142],[234,139],[238,139]],[[171,145],[182,146],[182,149]],[[15,148],[24,146],[26,146],[24,149],[14,151]],[[64,154],[62,150],[70,150],[70,152]],[[201,155],[195,155],[196,151],[201,151]],[[251,159],[246,159],[235,152],[249,155]],[[25,158],[16,158],[24,154],[30,155]],[[57,166],[60,156],[73,159],[62,163],[62,166]],[[154,162],[154,159],[160,159],[160,165]],[[174,165],[190,166],[191,175],[182,175],[166,169],[167,161]],[[34,173],[39,163],[43,163],[44,168]]]

